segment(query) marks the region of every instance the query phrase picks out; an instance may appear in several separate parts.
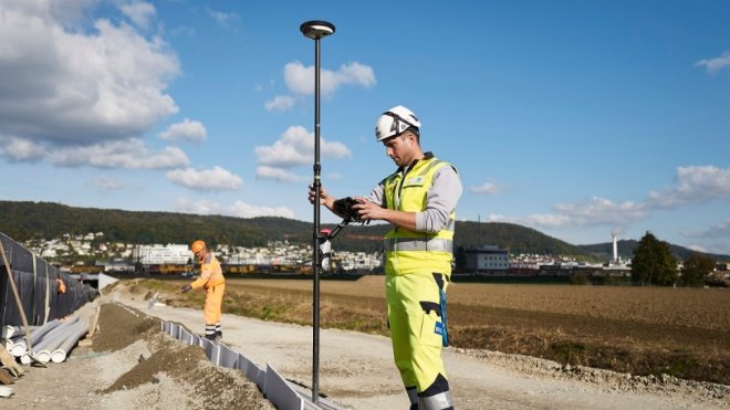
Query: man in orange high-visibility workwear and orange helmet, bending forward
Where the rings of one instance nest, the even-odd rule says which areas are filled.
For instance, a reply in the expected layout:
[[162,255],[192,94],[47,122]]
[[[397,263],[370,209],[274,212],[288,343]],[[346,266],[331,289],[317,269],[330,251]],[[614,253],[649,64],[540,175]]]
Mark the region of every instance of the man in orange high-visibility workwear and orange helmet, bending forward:
[[206,290],[206,305],[202,308],[206,318],[206,338],[210,340],[220,340],[223,333],[220,328],[220,305],[223,302],[226,292],[226,277],[223,270],[212,252],[208,251],[204,241],[195,241],[190,245],[190,251],[200,262],[200,276],[192,283],[181,287],[182,293],[191,290]]

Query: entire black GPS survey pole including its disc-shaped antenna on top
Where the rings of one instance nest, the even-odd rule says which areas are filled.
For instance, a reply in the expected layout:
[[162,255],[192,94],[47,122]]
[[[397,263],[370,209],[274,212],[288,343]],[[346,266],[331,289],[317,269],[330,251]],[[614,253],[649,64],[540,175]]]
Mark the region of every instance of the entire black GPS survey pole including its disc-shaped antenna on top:
[[334,33],[334,24],[326,21],[307,21],[300,27],[302,34],[314,40],[314,232],[312,239],[312,269],[314,271],[314,288],[312,302],[312,401],[320,401],[320,243],[323,233],[320,232],[320,40]]

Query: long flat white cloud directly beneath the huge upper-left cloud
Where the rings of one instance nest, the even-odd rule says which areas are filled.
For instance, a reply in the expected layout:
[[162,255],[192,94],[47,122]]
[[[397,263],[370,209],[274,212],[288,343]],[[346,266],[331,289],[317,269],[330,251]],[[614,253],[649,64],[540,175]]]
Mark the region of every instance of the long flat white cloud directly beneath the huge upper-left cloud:
[[49,153],[46,159],[62,167],[163,169],[188,165],[188,157],[179,148],[165,147],[150,153],[139,139],[64,147]]

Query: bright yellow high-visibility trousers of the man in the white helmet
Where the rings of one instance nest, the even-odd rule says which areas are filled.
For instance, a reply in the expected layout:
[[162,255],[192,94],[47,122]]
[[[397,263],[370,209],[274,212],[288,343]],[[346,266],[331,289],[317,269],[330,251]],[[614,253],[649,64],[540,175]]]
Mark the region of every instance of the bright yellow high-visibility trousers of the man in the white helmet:
[[[442,281],[444,290],[448,281]],[[406,389],[426,391],[446,379],[441,360],[440,290],[430,272],[386,277],[393,356]],[[448,391],[448,382],[445,389]],[[432,390],[432,389],[431,389]]]

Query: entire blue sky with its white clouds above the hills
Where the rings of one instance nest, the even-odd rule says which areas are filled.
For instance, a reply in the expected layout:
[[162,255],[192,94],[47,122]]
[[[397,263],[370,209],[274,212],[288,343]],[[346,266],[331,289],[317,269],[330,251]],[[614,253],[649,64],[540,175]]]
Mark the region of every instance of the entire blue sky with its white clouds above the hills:
[[335,196],[394,170],[373,130],[405,105],[460,220],[730,254],[730,2],[343,4],[1,0],[0,199],[312,221],[327,20]]

